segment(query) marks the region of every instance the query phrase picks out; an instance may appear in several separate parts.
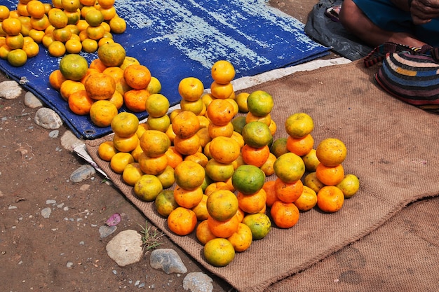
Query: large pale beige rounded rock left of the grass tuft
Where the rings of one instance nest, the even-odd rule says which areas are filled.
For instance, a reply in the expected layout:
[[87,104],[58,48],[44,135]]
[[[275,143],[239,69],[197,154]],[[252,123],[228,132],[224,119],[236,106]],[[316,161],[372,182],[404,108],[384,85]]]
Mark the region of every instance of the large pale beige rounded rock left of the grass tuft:
[[107,253],[119,267],[137,263],[143,255],[142,236],[135,230],[119,232],[107,244]]

